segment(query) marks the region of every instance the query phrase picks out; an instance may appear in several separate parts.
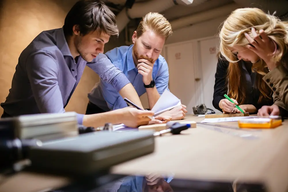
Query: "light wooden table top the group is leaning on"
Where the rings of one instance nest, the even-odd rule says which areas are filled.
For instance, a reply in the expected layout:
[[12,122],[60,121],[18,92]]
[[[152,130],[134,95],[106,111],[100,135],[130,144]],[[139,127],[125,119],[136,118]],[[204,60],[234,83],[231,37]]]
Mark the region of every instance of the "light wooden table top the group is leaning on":
[[[184,121],[204,117],[187,116]],[[237,122],[219,123],[237,127]],[[264,182],[269,191],[287,191],[288,123],[275,129],[243,130],[197,124],[181,135],[156,137],[155,152],[119,164],[116,174],[174,173],[175,177]],[[63,177],[20,172],[0,191],[29,192],[66,185]]]

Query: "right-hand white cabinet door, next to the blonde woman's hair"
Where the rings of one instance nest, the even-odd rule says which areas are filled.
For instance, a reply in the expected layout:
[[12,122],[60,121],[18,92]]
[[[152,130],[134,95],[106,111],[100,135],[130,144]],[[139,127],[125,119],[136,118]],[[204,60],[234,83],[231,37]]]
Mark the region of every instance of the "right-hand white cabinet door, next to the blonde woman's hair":
[[219,51],[219,39],[211,38],[200,41],[200,55],[203,83],[203,101],[207,108],[216,110],[212,105],[215,73],[217,67],[217,53]]

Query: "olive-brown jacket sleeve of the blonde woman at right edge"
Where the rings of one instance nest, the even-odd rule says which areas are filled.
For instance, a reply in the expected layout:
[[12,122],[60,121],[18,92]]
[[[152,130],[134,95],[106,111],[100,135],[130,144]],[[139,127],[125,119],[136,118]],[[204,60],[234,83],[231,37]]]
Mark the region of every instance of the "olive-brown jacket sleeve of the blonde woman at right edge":
[[274,70],[267,73],[263,80],[274,92],[274,104],[288,110],[288,71],[283,64],[279,64]]

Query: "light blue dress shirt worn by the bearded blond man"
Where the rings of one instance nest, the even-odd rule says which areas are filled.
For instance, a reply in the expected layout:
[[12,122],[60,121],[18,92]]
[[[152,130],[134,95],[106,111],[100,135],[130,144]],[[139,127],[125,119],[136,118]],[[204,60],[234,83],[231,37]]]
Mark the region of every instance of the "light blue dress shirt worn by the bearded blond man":
[[[105,53],[105,55],[107,55],[109,60],[126,75],[134,86],[138,96],[141,96],[146,92],[146,88],[144,88],[143,76],[138,73],[134,64],[132,48],[133,45],[116,47]],[[154,63],[152,78],[155,81],[156,88],[160,95],[168,89],[168,64],[161,55]],[[99,83],[96,83],[92,91],[88,94],[88,98],[90,102],[105,111],[127,107],[127,103],[118,91],[102,79]]]

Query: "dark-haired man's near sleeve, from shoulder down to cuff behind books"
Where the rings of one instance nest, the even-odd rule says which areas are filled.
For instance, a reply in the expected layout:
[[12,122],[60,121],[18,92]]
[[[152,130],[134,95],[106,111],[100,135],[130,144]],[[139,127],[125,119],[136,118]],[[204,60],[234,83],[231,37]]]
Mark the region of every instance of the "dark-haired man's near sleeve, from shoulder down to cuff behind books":
[[[65,113],[57,80],[59,69],[53,56],[43,50],[31,54],[25,70],[40,113]],[[79,124],[82,124],[83,116],[77,114]]]

